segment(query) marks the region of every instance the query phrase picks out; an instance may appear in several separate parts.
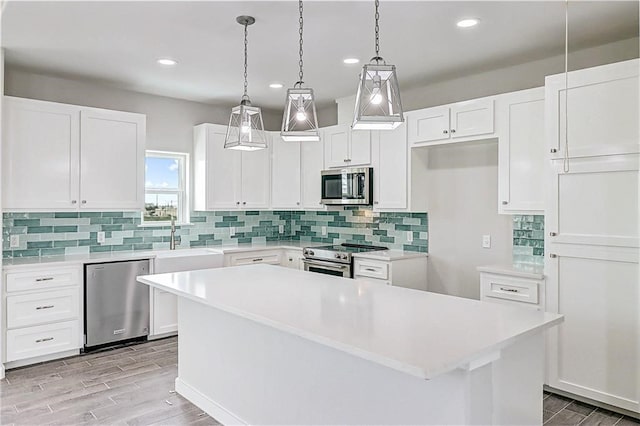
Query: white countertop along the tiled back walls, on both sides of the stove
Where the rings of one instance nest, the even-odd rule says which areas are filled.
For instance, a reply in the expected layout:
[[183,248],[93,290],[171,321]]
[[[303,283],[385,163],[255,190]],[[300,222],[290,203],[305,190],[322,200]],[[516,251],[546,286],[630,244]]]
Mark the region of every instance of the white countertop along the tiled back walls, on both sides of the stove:
[[[62,255],[47,257],[14,257],[11,259],[3,259],[2,266],[6,270],[11,270],[37,265],[47,266],[50,264],[55,264],[56,266],[63,266],[96,262],[117,262],[121,260],[153,259],[158,256],[184,256],[188,253],[196,254],[202,251],[225,254],[270,249],[302,250],[303,247],[315,247],[321,245],[326,244],[312,243],[309,241],[269,241],[267,243],[261,244],[178,248],[177,250],[113,251],[104,253],[75,254],[68,256]],[[399,258],[412,258],[426,255],[426,253],[415,253],[402,250],[386,250],[371,253],[360,253],[356,255],[356,257],[390,261]]]

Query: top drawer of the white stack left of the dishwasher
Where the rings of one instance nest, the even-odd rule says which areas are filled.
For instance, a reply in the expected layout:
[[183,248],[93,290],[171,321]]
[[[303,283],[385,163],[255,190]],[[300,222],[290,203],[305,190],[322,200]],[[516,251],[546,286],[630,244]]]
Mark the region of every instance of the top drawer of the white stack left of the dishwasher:
[[80,277],[80,268],[77,267],[8,272],[7,292],[80,285]]

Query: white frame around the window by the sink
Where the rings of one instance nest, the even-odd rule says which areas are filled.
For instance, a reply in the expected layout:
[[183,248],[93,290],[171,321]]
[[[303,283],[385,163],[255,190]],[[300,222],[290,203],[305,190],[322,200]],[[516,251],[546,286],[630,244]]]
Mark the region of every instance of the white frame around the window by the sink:
[[[156,158],[168,158],[178,161],[178,189],[163,189],[163,188],[147,188],[146,182],[146,162],[148,157]],[[145,205],[147,194],[176,194],[178,196],[177,218],[176,225],[186,225],[189,223],[189,153],[187,152],[174,152],[174,151],[158,151],[153,149],[145,150]],[[141,226],[168,226],[171,221],[152,221],[145,220],[146,208],[140,212],[140,224]]]

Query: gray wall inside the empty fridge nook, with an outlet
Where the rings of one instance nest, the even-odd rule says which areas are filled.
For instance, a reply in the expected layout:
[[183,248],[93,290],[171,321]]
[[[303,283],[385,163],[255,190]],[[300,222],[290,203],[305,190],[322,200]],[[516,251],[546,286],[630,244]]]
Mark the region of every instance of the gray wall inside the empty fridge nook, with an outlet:
[[429,150],[429,291],[479,298],[476,268],[511,263],[511,216],[497,212],[497,140],[420,149]]

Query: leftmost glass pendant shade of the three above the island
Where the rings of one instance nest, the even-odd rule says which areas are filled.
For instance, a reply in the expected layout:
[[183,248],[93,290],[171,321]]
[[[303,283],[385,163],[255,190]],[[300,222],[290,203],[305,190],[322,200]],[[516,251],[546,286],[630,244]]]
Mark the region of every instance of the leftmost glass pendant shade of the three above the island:
[[256,151],[267,147],[262,113],[259,107],[251,106],[248,99],[243,99],[240,105],[231,110],[224,147],[241,151]]

